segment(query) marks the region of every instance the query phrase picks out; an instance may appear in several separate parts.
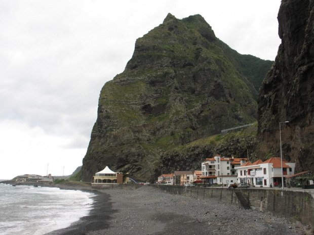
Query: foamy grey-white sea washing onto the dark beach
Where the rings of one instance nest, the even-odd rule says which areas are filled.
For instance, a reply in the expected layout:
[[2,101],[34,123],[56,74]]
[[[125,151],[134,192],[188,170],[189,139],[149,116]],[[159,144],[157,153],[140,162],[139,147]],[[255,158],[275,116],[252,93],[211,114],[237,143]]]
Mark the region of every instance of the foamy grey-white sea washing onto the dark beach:
[[0,182],[0,234],[41,235],[68,227],[92,209],[95,195]]

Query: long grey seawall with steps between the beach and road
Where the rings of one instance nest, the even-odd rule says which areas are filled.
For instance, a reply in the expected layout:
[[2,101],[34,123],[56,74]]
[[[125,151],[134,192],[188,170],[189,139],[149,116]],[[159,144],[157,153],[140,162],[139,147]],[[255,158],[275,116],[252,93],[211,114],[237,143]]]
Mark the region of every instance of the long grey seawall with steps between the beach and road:
[[215,187],[184,187],[152,184],[170,194],[186,197],[210,199],[219,198],[224,203],[240,207],[241,203],[235,192],[241,192],[253,210],[259,210],[272,215],[298,220],[314,227],[314,191],[287,190],[281,196],[281,190],[276,189],[221,189]]

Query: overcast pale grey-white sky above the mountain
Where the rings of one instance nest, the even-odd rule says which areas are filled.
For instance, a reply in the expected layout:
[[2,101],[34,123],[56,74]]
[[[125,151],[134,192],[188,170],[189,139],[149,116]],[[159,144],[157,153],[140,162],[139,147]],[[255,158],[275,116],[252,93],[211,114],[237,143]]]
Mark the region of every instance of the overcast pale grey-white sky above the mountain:
[[0,0],[0,179],[82,165],[102,86],[135,40],[200,14],[240,54],[274,60],[280,0]]

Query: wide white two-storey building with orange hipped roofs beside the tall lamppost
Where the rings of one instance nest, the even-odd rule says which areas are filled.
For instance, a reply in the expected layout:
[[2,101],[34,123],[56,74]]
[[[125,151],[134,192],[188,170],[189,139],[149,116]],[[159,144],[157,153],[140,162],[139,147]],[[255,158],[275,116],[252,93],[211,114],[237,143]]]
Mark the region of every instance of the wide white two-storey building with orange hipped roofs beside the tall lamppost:
[[282,184],[283,176],[287,177],[294,174],[295,163],[283,159],[283,171],[281,167],[281,158],[269,158],[266,161],[257,160],[253,163],[247,162],[239,167],[238,183],[248,183],[256,186],[279,186]]

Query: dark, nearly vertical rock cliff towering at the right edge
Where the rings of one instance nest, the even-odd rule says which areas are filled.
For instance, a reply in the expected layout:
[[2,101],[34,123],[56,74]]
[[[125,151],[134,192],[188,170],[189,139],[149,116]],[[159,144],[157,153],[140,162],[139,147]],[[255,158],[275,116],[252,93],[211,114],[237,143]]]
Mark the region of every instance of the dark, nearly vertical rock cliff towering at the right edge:
[[278,14],[282,43],[258,97],[258,155],[314,169],[314,1],[283,0]]

